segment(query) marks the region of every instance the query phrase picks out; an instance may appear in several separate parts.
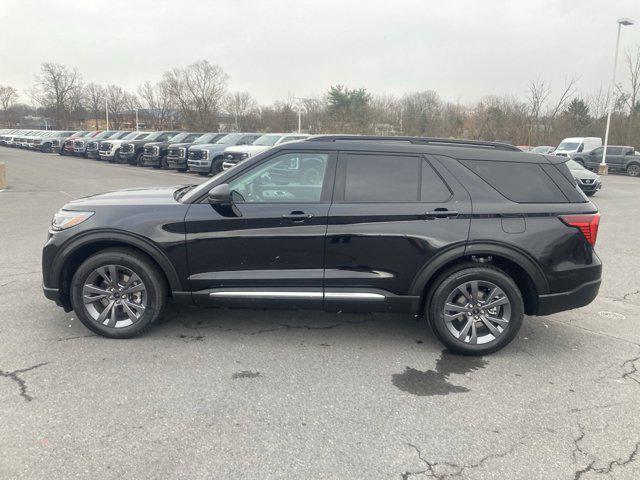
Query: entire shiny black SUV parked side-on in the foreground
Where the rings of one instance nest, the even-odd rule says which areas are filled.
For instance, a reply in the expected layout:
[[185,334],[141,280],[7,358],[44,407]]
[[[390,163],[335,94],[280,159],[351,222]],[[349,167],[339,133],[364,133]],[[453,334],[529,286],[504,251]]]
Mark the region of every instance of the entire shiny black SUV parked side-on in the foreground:
[[68,203],[44,293],[113,338],[145,331],[171,298],[424,315],[449,349],[490,353],[525,314],[598,293],[599,214],[565,161],[450,139],[283,144],[198,186]]

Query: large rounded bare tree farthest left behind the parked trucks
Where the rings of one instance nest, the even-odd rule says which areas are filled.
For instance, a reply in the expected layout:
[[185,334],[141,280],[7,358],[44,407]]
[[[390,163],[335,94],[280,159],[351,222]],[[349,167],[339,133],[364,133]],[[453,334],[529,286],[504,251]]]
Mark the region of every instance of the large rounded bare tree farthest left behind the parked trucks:
[[76,69],[59,63],[43,63],[40,74],[35,76],[32,96],[37,103],[53,111],[56,124],[68,125],[81,89],[82,79]]

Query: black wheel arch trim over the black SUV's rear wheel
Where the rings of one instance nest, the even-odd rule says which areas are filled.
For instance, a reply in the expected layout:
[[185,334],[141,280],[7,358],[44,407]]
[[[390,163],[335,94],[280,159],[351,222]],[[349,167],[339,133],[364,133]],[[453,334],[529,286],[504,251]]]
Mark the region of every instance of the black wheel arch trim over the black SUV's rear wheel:
[[433,280],[457,265],[489,264],[507,273],[518,285],[525,303],[525,313],[535,315],[538,296],[548,293],[549,285],[538,263],[526,253],[494,243],[471,243],[466,247],[453,247],[429,261],[414,278],[410,295],[421,298],[420,311],[424,311]]

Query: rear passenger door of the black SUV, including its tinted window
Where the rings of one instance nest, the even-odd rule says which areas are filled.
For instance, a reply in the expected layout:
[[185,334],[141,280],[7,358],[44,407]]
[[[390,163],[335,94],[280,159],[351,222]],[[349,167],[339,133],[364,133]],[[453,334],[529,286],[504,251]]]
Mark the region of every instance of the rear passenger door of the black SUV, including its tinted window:
[[[468,238],[468,193],[435,159],[341,152],[325,247],[325,308],[408,311],[434,256]],[[373,305],[373,306],[372,306]]]

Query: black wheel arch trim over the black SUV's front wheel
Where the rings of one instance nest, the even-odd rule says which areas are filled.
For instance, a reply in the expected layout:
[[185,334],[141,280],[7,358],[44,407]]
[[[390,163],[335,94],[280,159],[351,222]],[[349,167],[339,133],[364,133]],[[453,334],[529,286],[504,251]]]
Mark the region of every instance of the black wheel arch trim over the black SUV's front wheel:
[[148,240],[118,231],[91,232],[74,238],[56,255],[51,267],[51,285],[59,288],[63,304],[70,306],[69,287],[73,274],[89,256],[108,248],[128,248],[143,253],[153,261],[167,280],[169,294],[182,292],[183,288],[175,268],[167,256]]

